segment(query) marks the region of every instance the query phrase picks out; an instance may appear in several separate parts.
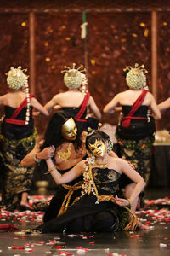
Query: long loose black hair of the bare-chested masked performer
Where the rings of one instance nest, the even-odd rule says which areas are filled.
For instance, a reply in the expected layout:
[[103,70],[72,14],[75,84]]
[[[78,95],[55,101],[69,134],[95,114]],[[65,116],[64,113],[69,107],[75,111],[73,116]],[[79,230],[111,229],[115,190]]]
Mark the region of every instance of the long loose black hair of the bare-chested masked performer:
[[[41,149],[50,147],[52,145],[54,145],[55,148],[58,148],[62,143],[65,142],[65,138],[62,135],[61,129],[62,125],[65,124],[66,120],[70,118],[71,116],[66,115],[63,111],[54,113],[48,123],[48,127],[44,135],[44,143]],[[75,123],[77,125],[76,121]],[[77,139],[75,141],[72,141],[75,150],[82,146],[82,140],[80,137],[81,133],[82,132],[77,125]]]

